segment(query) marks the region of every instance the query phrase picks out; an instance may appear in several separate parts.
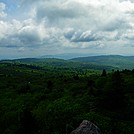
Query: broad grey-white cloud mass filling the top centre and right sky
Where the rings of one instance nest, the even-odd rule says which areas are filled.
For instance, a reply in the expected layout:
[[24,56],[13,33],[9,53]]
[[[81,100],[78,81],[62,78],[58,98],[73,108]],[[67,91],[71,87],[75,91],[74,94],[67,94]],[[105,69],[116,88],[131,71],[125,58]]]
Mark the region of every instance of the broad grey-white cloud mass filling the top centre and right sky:
[[54,27],[73,27],[83,31],[87,29],[114,31],[131,28],[126,14],[128,11],[123,10],[126,3],[113,1],[112,6],[108,2],[105,5],[101,2],[95,5],[94,2],[92,5],[90,2],[83,4],[76,0],[45,1],[35,6],[34,14],[37,22],[45,19],[49,26]]

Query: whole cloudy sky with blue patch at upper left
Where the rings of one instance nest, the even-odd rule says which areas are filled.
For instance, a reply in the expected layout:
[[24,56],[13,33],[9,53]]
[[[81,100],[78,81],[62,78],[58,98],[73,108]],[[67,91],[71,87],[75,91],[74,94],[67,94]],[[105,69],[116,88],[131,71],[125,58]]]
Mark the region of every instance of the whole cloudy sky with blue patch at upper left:
[[134,0],[0,0],[0,59],[134,55]]

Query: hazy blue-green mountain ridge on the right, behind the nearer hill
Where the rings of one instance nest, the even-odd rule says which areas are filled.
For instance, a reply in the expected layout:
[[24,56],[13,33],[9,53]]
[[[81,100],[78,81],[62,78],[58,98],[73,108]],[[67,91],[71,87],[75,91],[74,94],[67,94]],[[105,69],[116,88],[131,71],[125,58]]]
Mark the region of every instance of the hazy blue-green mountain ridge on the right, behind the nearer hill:
[[134,69],[134,56],[100,55],[100,56],[78,57],[70,60],[113,66],[120,69]]

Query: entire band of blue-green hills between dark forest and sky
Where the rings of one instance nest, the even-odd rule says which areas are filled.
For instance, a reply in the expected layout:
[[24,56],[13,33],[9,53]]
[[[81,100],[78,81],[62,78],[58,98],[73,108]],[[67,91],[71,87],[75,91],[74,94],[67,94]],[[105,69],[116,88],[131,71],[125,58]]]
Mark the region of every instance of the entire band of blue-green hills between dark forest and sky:
[[30,64],[36,66],[52,66],[62,68],[85,68],[94,70],[111,69],[134,69],[134,56],[100,55],[63,58],[22,58],[15,60],[2,60],[2,62]]

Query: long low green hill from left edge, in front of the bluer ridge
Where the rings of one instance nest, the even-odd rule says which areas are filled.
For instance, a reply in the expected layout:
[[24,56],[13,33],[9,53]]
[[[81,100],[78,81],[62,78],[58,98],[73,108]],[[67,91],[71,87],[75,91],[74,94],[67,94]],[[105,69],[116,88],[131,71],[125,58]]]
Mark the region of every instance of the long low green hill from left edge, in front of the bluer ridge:
[[56,58],[26,58],[26,59],[16,59],[16,60],[3,60],[1,63],[14,63],[18,65],[29,65],[36,67],[50,67],[50,68],[62,68],[62,69],[91,69],[91,70],[112,70],[117,69],[112,66],[99,65],[96,63],[89,62],[80,62],[80,61],[71,61],[71,60],[63,60]]

